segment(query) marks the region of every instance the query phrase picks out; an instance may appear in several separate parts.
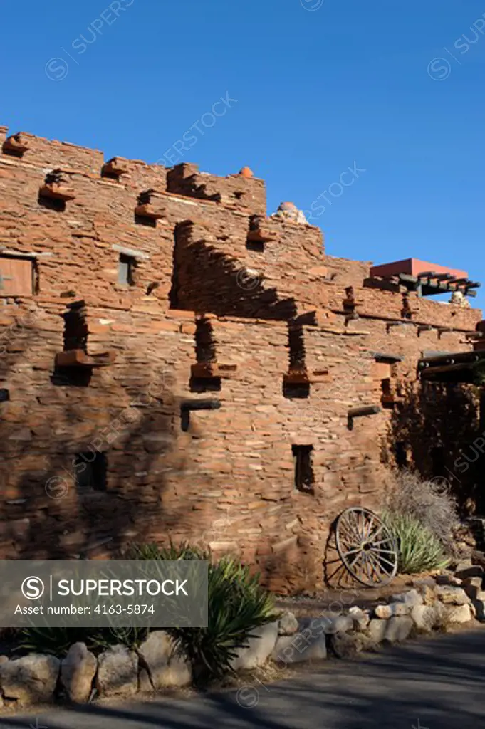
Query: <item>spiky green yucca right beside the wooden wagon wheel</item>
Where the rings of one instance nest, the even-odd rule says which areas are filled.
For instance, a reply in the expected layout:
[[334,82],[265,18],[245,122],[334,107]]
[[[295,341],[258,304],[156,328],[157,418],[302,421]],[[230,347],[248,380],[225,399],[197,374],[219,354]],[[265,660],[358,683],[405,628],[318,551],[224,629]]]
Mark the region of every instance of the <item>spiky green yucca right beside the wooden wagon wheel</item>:
[[418,519],[392,512],[385,512],[382,518],[397,542],[399,572],[430,572],[449,564],[440,540]]

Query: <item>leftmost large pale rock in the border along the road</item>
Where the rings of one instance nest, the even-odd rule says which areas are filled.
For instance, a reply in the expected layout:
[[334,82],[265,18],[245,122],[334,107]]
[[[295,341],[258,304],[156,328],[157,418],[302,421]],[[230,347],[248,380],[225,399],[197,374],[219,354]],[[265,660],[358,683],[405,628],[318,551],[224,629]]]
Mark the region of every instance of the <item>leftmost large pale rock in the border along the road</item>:
[[4,698],[21,705],[53,700],[60,661],[53,655],[31,653],[0,663],[0,687]]

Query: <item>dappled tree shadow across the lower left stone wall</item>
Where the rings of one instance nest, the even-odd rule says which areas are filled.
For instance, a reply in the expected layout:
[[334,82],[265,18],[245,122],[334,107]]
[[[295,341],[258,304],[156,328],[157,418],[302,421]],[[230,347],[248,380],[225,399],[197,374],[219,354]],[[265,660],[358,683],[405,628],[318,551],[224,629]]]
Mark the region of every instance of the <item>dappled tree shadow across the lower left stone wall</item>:
[[[167,532],[176,529],[187,509],[173,499],[168,508],[160,469],[160,459],[174,451],[171,392],[166,389],[162,399],[144,393],[144,406],[130,408],[130,418],[115,428],[115,413],[123,408],[113,382],[104,390],[102,382],[92,389],[51,381],[48,365],[42,373],[31,370],[29,353],[36,351],[37,358],[40,343],[44,355],[44,332],[28,327],[21,338],[11,335],[0,360],[2,387],[11,389],[0,403],[2,558],[114,555],[143,541],[158,522]],[[146,379],[133,365],[129,374],[133,382],[137,375]],[[101,437],[110,426],[112,437]],[[144,448],[143,436],[155,429],[157,439]],[[185,462],[177,457],[183,471]]]

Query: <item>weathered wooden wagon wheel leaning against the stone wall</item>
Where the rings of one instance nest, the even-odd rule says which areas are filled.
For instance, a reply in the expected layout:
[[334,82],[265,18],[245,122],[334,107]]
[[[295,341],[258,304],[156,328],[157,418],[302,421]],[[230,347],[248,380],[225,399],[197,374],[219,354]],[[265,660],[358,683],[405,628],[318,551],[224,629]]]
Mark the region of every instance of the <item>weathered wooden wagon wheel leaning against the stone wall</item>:
[[372,511],[360,507],[343,511],[335,526],[335,542],[345,568],[362,585],[388,585],[395,577],[395,539]]

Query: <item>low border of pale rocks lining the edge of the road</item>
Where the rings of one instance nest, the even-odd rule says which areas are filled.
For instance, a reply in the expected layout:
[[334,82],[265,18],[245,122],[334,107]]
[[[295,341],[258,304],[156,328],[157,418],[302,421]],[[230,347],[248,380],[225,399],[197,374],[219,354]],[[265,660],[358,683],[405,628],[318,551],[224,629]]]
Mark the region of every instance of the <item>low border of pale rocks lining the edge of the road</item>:
[[[249,671],[269,660],[279,664],[352,658],[383,643],[417,634],[446,631],[459,623],[485,622],[484,570],[468,566],[455,574],[410,580],[407,592],[374,609],[350,607],[340,615],[298,620],[285,612],[253,631],[233,659],[234,671]],[[137,650],[115,645],[96,658],[84,643],[71,645],[66,658],[32,653],[0,655],[0,706],[23,708],[66,698],[86,703],[93,696],[133,696],[192,683],[192,668],[166,631],[152,631]]]

